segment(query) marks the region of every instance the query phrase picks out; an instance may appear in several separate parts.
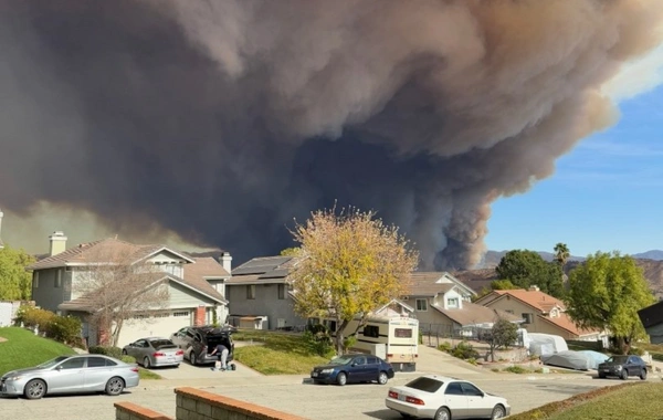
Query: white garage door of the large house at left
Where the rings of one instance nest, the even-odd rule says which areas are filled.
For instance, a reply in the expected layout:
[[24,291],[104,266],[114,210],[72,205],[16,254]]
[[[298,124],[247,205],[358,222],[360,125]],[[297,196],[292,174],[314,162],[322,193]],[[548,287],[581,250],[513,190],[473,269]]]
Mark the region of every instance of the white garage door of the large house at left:
[[125,321],[119,332],[118,347],[145,337],[170,337],[178,329],[192,324],[193,309],[165,313],[151,318],[131,318]]

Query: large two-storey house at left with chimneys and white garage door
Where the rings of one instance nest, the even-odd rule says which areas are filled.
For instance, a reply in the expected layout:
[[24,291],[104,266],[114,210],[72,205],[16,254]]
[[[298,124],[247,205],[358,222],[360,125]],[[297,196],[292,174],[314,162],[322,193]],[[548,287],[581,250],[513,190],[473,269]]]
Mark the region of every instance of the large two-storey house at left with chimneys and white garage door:
[[32,300],[44,309],[81,317],[83,336],[91,346],[99,343],[99,335],[105,333],[88,323],[88,314],[98,311],[94,307],[98,304],[84,283],[91,276],[103,275],[104,266],[119,265],[109,261],[110,255],[118,253],[127,255],[123,264],[145,267],[140,275],[150,276],[150,284],[166,284],[168,296],[168,302],[158,309],[144,311],[127,319],[118,346],[145,336],[168,337],[186,326],[210,324],[214,319],[223,323],[227,318],[228,301],[223,293],[232,260],[228,253],[221,255],[219,263],[212,258],[196,259],[164,245],[136,245],[115,238],[70,249],[63,232],[54,232],[49,239],[48,256],[27,267],[33,272]]

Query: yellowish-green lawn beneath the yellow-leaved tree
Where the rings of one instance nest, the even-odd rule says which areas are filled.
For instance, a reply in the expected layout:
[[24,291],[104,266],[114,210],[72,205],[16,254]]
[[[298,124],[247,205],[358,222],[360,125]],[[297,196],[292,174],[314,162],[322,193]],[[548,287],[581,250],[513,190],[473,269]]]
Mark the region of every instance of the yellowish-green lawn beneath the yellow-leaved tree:
[[329,360],[316,355],[298,334],[240,330],[232,337],[235,342],[262,343],[235,346],[234,358],[264,375],[305,375]]

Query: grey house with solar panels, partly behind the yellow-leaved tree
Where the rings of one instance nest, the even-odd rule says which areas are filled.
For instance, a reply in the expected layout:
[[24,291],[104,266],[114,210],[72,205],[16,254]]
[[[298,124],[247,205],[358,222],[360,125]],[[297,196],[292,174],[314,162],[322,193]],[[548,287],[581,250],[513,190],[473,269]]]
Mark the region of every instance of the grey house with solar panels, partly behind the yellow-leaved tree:
[[306,325],[295,313],[294,294],[285,277],[293,256],[261,256],[232,271],[225,282],[230,323],[256,329],[293,329]]

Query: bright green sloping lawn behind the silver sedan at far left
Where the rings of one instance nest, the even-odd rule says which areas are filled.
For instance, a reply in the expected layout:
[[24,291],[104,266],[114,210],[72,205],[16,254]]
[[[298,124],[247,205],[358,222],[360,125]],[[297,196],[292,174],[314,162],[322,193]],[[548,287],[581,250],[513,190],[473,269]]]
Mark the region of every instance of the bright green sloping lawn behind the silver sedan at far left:
[[50,338],[35,336],[19,327],[0,328],[0,375],[10,370],[36,366],[57,356],[75,354],[70,347]]

